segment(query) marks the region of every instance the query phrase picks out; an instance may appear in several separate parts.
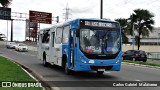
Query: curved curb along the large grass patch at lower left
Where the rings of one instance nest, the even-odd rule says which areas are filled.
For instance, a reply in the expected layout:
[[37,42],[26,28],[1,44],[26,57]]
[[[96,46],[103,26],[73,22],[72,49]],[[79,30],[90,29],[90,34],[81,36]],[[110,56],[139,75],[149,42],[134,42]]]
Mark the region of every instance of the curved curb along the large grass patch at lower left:
[[13,59],[9,58],[9,57],[6,57],[6,56],[3,56],[3,55],[0,55],[2,57],[5,57],[7,58],[9,61],[13,62],[13,63],[16,63],[17,65],[19,65],[21,68],[25,69],[29,74],[31,74],[35,79],[37,79],[38,81],[40,81],[41,83],[43,83],[43,85],[45,87],[43,87],[45,90],[54,90],[48,83],[44,82],[44,79],[42,76],[40,76],[37,72],[35,71],[32,71],[29,67],[17,62],[17,61],[14,61]]

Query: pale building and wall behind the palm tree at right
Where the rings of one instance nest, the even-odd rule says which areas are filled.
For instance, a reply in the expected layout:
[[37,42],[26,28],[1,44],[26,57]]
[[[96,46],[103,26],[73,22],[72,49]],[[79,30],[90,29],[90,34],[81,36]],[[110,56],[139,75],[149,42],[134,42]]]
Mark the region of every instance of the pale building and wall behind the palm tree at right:
[[[137,32],[135,32],[137,35]],[[130,49],[137,49],[137,46],[132,45],[132,36],[128,36],[130,44],[123,45],[123,51]],[[150,32],[148,37],[141,38],[140,50],[144,50],[147,53],[150,53],[148,58],[160,58],[160,27],[154,28]]]

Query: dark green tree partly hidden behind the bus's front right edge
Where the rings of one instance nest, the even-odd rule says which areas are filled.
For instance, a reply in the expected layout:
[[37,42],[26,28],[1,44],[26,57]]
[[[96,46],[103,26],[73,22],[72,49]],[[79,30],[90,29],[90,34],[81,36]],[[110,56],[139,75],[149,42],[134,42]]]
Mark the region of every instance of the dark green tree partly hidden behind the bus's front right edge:
[[128,28],[128,22],[127,19],[124,18],[119,18],[119,19],[115,19],[115,21],[118,21],[120,23],[121,26],[121,30],[122,30],[122,41],[123,43],[128,43],[128,37],[126,36],[129,32]]

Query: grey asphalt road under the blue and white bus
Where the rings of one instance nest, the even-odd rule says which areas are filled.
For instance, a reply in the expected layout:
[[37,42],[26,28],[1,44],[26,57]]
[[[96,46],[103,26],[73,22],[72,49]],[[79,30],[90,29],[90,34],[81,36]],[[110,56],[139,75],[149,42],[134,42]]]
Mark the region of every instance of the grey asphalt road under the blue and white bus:
[[[120,72],[108,71],[102,76],[98,76],[96,72],[75,72],[73,75],[66,75],[61,67],[44,67],[42,61],[37,59],[36,52],[33,51],[17,52],[14,49],[6,49],[5,46],[0,45],[0,55],[24,64],[40,75],[44,81],[53,81],[50,83],[55,83],[52,86],[55,90],[160,90],[160,87],[105,87],[107,81],[113,81],[116,84],[119,81],[160,82],[160,69],[122,64]],[[64,82],[66,84],[75,84],[75,86],[64,87],[66,85],[64,85]]]

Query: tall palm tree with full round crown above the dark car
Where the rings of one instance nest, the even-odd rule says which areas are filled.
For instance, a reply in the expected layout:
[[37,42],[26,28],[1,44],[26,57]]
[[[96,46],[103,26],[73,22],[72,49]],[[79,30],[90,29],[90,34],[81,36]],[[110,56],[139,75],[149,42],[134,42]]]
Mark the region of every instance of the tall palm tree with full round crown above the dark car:
[[[153,30],[153,20],[154,15],[150,13],[148,10],[144,9],[136,9],[134,10],[134,13],[130,16],[129,20],[131,28],[134,25],[134,30],[138,32],[137,38],[137,44],[138,44],[138,50],[140,48],[140,36],[146,37],[149,36],[149,33]],[[133,30],[130,28],[130,31]]]

